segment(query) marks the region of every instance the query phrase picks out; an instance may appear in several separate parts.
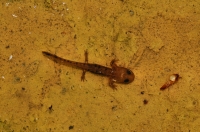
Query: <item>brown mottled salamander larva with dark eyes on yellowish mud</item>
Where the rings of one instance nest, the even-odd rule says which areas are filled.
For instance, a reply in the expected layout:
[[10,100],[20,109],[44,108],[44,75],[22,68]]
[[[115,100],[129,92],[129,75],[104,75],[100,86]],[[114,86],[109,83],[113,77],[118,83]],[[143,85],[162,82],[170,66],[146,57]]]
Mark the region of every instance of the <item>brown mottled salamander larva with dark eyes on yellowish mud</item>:
[[110,62],[110,66],[112,68],[101,66],[98,64],[88,63],[88,52],[87,51],[85,51],[85,63],[66,60],[66,59],[60,58],[57,55],[51,54],[46,51],[43,51],[42,53],[44,56],[48,57],[49,59],[53,60],[54,62],[57,62],[62,65],[72,66],[72,67],[82,69],[83,70],[83,74],[81,76],[82,81],[85,80],[85,72],[90,71],[95,74],[108,76],[109,77],[109,86],[112,87],[113,89],[116,89],[116,85],[114,85],[114,83],[128,84],[128,83],[131,83],[135,78],[135,75],[131,70],[124,68],[124,67],[117,66],[115,63],[116,62],[115,59],[113,59]]

